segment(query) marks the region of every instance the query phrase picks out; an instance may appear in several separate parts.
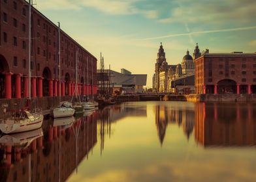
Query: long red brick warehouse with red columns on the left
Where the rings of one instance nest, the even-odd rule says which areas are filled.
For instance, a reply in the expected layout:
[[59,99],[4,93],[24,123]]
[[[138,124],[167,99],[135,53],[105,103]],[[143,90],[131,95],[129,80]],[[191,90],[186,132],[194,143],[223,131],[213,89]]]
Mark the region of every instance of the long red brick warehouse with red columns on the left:
[[[1,0],[0,12],[0,99],[27,98],[29,5],[22,0]],[[97,59],[63,31],[60,31],[59,81],[58,27],[33,7],[31,37],[32,98],[72,95],[76,82],[76,50],[78,93],[97,93]],[[89,84],[84,85],[87,81]],[[58,88],[59,83],[61,90]]]

